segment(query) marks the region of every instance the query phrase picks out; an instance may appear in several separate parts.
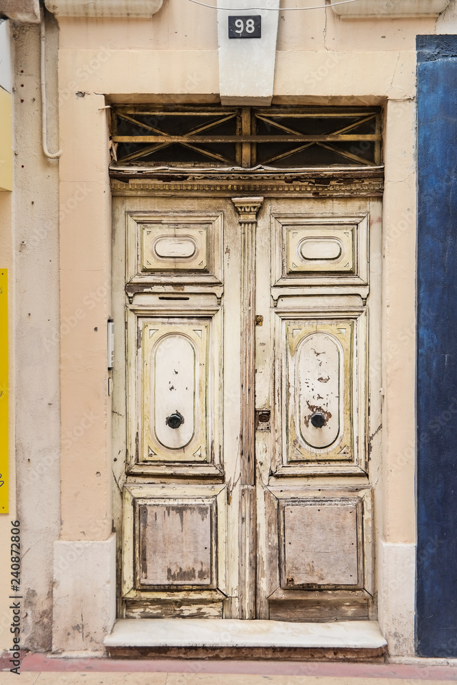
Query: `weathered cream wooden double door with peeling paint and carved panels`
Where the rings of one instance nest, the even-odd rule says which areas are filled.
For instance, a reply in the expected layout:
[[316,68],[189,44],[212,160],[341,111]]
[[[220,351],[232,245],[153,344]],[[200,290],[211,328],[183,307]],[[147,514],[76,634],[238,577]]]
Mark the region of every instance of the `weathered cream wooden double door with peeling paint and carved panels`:
[[114,197],[121,616],[375,616],[380,226],[375,197]]

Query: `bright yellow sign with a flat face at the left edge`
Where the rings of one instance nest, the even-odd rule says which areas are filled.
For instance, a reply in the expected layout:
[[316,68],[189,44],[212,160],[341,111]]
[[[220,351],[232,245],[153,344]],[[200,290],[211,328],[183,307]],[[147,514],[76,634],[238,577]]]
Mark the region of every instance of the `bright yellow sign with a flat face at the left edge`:
[[0,269],[0,514],[8,514],[8,269]]

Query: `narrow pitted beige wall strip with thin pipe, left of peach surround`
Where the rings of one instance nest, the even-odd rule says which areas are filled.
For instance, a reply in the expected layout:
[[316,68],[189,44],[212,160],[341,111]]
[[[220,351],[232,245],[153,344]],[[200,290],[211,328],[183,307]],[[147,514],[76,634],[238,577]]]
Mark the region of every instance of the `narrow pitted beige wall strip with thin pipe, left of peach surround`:
[[[14,32],[16,472],[23,645],[51,646],[52,545],[60,528],[58,162],[41,148],[40,27]],[[49,148],[56,149],[57,25],[47,18]]]

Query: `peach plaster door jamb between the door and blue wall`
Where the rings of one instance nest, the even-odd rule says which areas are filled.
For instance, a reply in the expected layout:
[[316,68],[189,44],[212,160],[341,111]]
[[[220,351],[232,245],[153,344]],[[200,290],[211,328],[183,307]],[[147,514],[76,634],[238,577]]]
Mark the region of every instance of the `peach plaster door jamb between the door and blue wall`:
[[388,101],[383,271],[383,534],[415,541],[415,102]]

